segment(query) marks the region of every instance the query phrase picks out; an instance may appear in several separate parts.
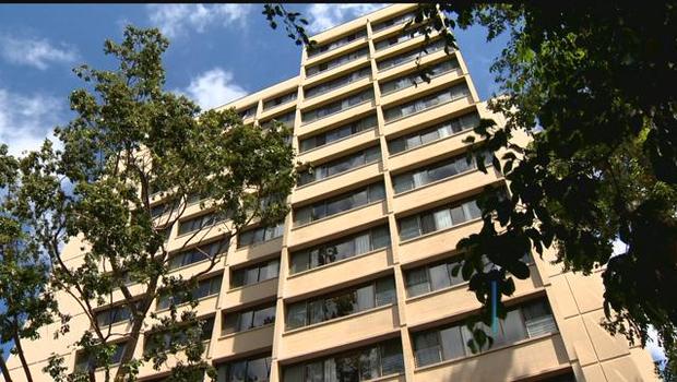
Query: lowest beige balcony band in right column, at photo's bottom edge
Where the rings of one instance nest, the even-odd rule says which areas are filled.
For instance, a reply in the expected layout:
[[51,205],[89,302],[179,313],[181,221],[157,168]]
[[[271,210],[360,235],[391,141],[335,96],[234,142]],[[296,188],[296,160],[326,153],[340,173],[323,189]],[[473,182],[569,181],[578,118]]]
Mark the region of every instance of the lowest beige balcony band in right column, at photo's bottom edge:
[[568,366],[565,344],[556,333],[418,368],[414,371],[414,381],[494,381],[497,375],[504,381],[515,381]]

